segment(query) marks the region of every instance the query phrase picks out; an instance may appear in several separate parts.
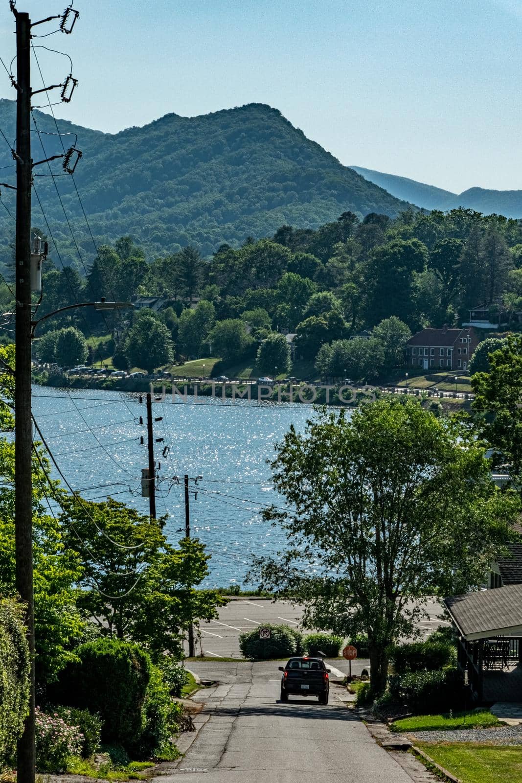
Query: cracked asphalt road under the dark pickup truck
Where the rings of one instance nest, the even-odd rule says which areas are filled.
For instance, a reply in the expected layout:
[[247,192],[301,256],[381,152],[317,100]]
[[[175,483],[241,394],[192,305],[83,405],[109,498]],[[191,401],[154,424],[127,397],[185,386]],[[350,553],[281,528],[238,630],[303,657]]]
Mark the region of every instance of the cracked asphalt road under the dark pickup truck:
[[[191,669],[200,677],[218,679],[220,684],[196,695],[205,703],[203,712],[196,716],[199,733],[182,760],[163,765],[156,781],[434,780],[427,770],[422,770],[421,777],[410,777],[394,756],[376,744],[365,724],[344,704],[345,689],[332,684],[329,705],[318,705],[315,697],[279,702],[277,666],[277,662],[191,662]],[[409,756],[406,762],[411,766],[415,760]]]

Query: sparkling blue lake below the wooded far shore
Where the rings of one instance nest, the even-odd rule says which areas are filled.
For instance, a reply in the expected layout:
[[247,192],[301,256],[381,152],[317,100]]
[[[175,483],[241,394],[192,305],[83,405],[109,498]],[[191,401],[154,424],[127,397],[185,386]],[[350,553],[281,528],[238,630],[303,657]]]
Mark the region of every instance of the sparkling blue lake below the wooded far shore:
[[[107,496],[143,514],[141,470],[147,466],[145,399],[99,389],[33,387],[38,426],[70,486],[88,500]],[[204,586],[243,584],[252,553],[275,554],[286,536],[261,519],[270,503],[286,503],[272,486],[267,460],[275,443],[293,424],[304,431],[314,415],[299,403],[225,402],[210,397],[188,402],[153,403],[155,456],[160,460],[157,516],[167,516],[165,530],[175,543],[185,532],[183,475],[190,482],[191,534],[205,543],[211,574]],[[164,447],[170,451],[162,456]],[[53,467],[53,475],[59,478]],[[178,477],[179,484],[175,477]],[[311,571],[315,564],[308,564]]]

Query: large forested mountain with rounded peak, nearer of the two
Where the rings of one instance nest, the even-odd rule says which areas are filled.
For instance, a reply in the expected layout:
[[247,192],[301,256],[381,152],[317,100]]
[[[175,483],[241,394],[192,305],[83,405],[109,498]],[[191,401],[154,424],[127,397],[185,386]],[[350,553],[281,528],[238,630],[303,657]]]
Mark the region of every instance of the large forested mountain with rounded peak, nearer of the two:
[[[52,117],[38,110],[34,117],[40,132],[55,134],[41,133],[44,154],[34,132],[34,160],[59,153]],[[99,242],[131,234],[147,251],[171,252],[195,244],[210,254],[224,242],[237,246],[247,236],[271,236],[283,224],[317,228],[347,210],[360,217],[369,212],[393,217],[409,206],[341,165],[278,110],[261,103],[200,117],[167,114],[114,135],[63,120],[58,124],[62,134],[77,134],[83,157],[75,179]],[[0,101],[0,127],[14,139],[11,101]],[[63,137],[66,148],[73,142],[74,135]],[[2,143],[0,167],[9,164],[13,159]],[[77,242],[90,255],[92,243],[74,183],[63,176],[61,161],[51,166],[62,176],[49,177],[47,164],[34,173],[52,231],[70,259],[70,232],[58,188]],[[13,180],[14,168],[2,171],[2,179],[8,176],[8,182]],[[2,199],[13,205],[12,192],[3,188]],[[33,224],[41,226],[38,203],[33,203]],[[5,229],[13,229],[8,215],[1,219]]]

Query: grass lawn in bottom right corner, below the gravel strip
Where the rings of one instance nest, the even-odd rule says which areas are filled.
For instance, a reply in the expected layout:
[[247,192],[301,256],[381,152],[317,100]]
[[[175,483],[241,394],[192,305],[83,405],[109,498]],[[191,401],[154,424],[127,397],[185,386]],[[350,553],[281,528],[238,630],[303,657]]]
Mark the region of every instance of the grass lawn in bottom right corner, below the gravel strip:
[[522,747],[513,745],[419,745],[430,758],[463,783],[522,781]]

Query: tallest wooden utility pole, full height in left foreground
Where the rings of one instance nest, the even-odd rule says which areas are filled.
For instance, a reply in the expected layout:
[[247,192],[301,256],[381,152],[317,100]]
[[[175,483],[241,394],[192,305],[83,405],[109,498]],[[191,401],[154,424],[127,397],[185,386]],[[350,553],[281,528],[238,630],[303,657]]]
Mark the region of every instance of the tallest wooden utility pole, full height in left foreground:
[[29,709],[18,742],[16,778],[34,783],[34,598],[31,449],[31,20],[16,17],[16,383],[15,558],[16,590],[25,604],[31,653]]

